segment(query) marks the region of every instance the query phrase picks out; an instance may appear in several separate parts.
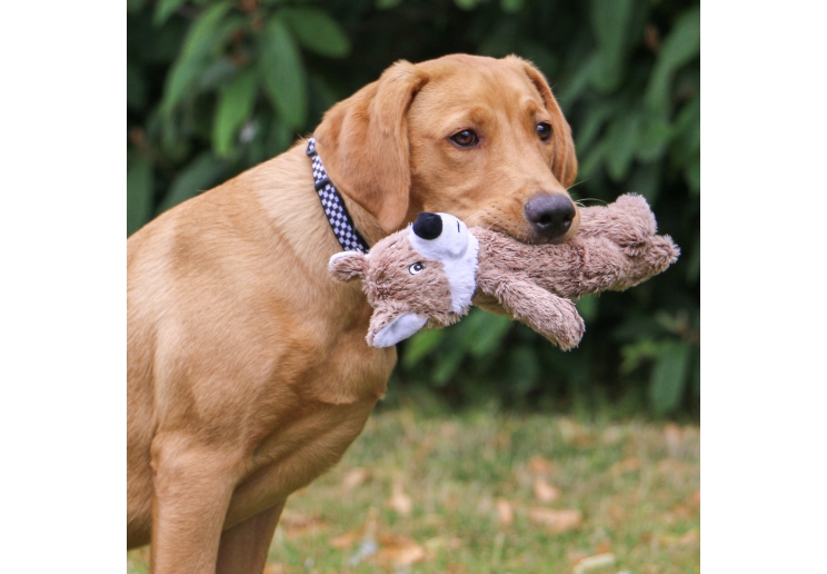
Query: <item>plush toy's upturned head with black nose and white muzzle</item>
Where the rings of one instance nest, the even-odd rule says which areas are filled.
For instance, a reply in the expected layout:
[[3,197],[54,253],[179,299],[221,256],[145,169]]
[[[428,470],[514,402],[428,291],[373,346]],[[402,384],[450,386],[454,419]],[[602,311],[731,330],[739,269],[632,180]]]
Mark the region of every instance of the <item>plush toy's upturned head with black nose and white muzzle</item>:
[[368,344],[390,347],[425,327],[442,327],[468,313],[476,288],[477,238],[448,214],[420,214],[370,253],[330,258],[339,281],[361,279],[373,307]]

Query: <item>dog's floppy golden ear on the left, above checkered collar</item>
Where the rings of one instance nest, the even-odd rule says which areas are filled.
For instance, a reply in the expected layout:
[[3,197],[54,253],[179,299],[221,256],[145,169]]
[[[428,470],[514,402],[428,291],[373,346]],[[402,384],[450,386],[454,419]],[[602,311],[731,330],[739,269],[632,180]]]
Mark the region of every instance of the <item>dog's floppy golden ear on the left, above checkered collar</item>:
[[331,181],[396,231],[408,212],[410,149],[407,116],[427,79],[400,60],[350,98],[333,106],[316,129],[316,146]]

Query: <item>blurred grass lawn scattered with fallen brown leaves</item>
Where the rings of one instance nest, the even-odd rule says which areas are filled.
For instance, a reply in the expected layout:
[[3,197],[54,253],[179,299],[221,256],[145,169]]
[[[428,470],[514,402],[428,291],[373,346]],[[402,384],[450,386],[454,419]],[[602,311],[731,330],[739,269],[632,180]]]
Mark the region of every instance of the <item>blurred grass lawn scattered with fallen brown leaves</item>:
[[266,573],[700,572],[699,451],[674,423],[386,410],[290,497]]

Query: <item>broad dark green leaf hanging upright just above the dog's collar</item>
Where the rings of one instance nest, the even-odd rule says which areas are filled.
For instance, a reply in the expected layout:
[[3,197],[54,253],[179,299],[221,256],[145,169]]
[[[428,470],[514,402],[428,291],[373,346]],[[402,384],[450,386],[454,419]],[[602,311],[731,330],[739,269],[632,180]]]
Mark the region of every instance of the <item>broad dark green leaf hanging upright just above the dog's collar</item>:
[[283,120],[298,128],[307,117],[307,80],[296,40],[280,18],[270,19],[259,40],[265,89]]

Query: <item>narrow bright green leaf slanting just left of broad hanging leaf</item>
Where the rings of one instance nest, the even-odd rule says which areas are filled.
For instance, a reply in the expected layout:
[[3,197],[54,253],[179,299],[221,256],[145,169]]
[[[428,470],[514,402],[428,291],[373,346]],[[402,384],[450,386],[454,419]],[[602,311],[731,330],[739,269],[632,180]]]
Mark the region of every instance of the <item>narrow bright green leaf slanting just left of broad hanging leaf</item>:
[[248,68],[221,89],[212,123],[212,149],[217,157],[232,154],[238,129],[252,116],[257,83],[256,70]]

